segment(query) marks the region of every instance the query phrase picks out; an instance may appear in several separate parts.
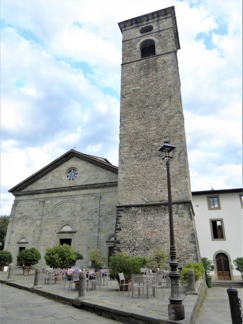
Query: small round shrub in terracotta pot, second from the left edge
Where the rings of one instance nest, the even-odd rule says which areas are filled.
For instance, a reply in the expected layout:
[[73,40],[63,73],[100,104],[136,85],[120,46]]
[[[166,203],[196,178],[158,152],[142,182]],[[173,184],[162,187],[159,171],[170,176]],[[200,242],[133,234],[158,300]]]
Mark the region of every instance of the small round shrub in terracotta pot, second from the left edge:
[[17,255],[17,261],[23,264],[23,274],[28,275],[32,269],[32,265],[41,260],[41,253],[35,248],[24,249]]

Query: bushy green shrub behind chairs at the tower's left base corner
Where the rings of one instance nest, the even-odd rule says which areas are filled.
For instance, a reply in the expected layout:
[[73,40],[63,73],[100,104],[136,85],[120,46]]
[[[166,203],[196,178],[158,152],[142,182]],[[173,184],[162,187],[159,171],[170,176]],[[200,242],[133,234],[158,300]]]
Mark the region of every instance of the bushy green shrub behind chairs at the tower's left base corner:
[[[131,257],[127,254],[119,253],[110,258],[109,263],[109,277],[111,279],[117,279],[119,283],[119,273],[123,272],[126,284],[131,281],[133,274],[141,273],[141,260],[138,257]],[[132,284],[131,284],[132,285]],[[127,289],[128,286],[124,287],[124,290]],[[123,288],[121,288],[122,290]],[[131,289],[131,286],[130,286]]]

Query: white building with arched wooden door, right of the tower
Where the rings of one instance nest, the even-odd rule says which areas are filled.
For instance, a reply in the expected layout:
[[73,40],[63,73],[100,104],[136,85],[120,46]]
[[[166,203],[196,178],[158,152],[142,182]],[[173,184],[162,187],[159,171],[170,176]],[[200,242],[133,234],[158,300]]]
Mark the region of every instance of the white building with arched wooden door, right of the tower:
[[243,256],[242,188],[192,192],[201,257],[212,260],[212,279],[240,280],[233,260]]

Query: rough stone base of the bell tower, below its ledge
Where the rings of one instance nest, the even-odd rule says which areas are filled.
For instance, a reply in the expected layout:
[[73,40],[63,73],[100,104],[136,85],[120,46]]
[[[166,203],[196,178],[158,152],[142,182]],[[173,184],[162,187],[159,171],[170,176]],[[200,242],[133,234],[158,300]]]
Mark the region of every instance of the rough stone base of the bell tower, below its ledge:
[[[193,217],[190,203],[173,205],[177,261],[181,267],[199,259]],[[154,249],[162,247],[169,255],[168,205],[117,208],[115,233],[114,249],[118,252],[149,257]]]

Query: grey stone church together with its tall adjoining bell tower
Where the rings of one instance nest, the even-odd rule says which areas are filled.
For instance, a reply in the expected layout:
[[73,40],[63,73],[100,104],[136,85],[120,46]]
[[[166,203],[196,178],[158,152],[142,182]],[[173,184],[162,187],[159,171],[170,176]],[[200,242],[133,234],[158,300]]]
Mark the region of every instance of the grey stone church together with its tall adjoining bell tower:
[[[118,24],[123,33],[119,167],[70,150],[10,190],[15,201],[6,249],[71,244],[87,266],[89,249],[149,256],[170,248],[166,165],[171,161],[179,266],[200,259],[192,208],[174,7]],[[42,257],[42,263],[45,263]]]

